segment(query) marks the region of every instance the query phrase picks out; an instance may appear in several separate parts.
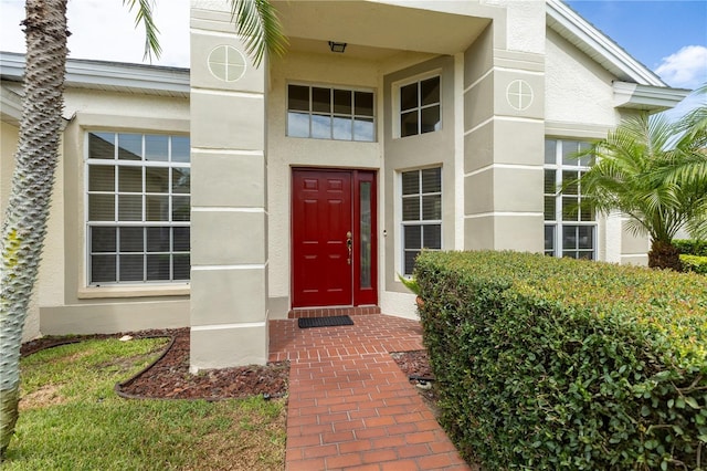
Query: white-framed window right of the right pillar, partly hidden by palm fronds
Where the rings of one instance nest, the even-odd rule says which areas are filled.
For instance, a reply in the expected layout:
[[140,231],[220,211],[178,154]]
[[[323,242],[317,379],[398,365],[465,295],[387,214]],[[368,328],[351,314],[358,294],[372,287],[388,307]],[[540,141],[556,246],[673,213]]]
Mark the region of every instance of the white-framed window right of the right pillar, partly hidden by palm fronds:
[[[545,253],[572,259],[597,258],[597,222],[591,200],[576,181],[587,171],[591,156],[578,158],[590,144],[568,139],[545,140]],[[564,188],[562,189],[562,187]],[[560,191],[562,189],[562,191]]]

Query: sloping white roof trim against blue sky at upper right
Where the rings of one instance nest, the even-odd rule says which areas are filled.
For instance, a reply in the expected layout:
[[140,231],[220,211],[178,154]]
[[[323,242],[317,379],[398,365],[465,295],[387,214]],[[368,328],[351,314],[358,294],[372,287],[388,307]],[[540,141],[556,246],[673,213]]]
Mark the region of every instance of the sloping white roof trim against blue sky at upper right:
[[580,17],[561,0],[546,0],[548,27],[605,66],[624,82],[667,87],[654,72]]

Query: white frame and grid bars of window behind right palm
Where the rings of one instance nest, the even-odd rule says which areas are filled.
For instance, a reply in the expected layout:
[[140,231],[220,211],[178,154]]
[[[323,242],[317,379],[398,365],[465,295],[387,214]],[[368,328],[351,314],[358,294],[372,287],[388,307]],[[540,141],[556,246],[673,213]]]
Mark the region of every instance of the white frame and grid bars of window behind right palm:
[[[563,219],[563,214],[562,214],[562,209],[563,209],[563,195],[560,192],[561,186],[562,186],[562,172],[563,171],[587,171],[590,167],[589,167],[589,163],[587,161],[588,158],[583,157],[581,160],[577,159],[577,164],[572,163],[572,164],[567,164],[563,161],[563,147],[570,146],[570,145],[577,145],[578,143],[580,144],[580,146],[589,146],[590,144],[585,140],[582,139],[571,139],[571,138],[551,138],[551,137],[546,137],[546,143],[547,142],[553,142],[556,144],[555,147],[555,161],[553,163],[548,163],[547,161],[547,155],[546,155],[546,163],[544,166],[544,170],[555,170],[555,219],[546,219],[546,217],[544,216],[544,233],[545,230],[547,230],[547,228],[552,228],[553,229],[553,233],[552,233],[552,249],[548,249],[547,247],[544,249],[545,254],[546,255],[550,255],[550,257],[567,257],[566,252],[573,252],[574,257],[573,258],[580,258],[579,255],[581,253],[587,253],[590,254],[590,259],[591,260],[597,260],[598,253],[599,253],[599,230],[598,230],[598,221],[597,221],[597,214],[593,213],[592,214],[592,220],[588,221],[588,220],[582,220],[581,217],[581,202],[582,202],[582,192],[581,192],[581,187],[578,187],[577,189],[577,197],[580,201],[580,214],[578,216],[577,220],[564,220]],[[547,150],[546,150],[547,154]],[[582,161],[583,160],[583,161]],[[544,178],[545,178],[545,174],[544,174]],[[546,193],[544,191],[544,200],[546,197],[549,197],[550,193]],[[564,195],[567,196],[567,195]],[[545,214],[545,211],[544,211]],[[579,247],[579,241],[577,243],[577,247],[573,248],[564,248],[563,247],[563,231],[566,228],[590,228],[591,230],[591,238],[592,238],[592,248],[591,249],[582,249]],[[577,229],[579,230],[579,229]],[[579,237],[578,237],[579,239]],[[544,244],[545,245],[545,244]]]

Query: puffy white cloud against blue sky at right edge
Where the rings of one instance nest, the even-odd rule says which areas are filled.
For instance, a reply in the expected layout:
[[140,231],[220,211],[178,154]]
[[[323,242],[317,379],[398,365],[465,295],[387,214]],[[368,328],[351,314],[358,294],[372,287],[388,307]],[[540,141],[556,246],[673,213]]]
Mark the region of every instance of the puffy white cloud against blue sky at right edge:
[[679,88],[697,88],[707,82],[707,48],[686,45],[663,57],[655,73],[668,85]]

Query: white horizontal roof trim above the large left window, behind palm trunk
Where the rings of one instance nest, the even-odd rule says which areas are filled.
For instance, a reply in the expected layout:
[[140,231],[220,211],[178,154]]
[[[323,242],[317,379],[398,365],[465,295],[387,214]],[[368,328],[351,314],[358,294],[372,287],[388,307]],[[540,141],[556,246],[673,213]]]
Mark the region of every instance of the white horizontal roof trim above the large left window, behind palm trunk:
[[[2,78],[21,81],[24,54],[0,52]],[[143,92],[189,94],[189,70],[157,65],[125,64],[68,59],[66,86],[130,88]]]

